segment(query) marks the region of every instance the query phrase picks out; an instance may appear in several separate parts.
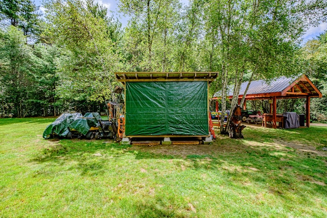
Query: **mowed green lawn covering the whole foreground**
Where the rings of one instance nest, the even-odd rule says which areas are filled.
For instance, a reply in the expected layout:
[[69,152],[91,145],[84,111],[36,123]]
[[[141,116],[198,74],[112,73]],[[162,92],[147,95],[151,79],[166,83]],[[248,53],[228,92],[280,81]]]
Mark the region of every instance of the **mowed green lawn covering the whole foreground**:
[[137,147],[44,140],[53,121],[0,119],[0,217],[327,217],[327,127]]

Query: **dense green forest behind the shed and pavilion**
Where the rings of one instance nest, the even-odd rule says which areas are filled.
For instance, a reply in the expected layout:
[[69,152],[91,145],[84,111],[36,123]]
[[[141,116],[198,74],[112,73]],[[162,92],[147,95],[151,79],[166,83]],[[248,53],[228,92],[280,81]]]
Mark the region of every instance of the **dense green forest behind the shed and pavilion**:
[[[183,1],[185,2],[185,1]],[[0,117],[104,111],[118,71],[217,71],[211,96],[221,110],[232,85],[306,74],[322,92],[311,118],[327,119],[325,0],[121,0],[126,27],[94,0],[0,0]],[[43,13],[44,12],[44,13]],[[243,104],[243,103],[242,103]],[[268,102],[248,102],[268,110]],[[301,99],[278,100],[280,112],[303,113]]]

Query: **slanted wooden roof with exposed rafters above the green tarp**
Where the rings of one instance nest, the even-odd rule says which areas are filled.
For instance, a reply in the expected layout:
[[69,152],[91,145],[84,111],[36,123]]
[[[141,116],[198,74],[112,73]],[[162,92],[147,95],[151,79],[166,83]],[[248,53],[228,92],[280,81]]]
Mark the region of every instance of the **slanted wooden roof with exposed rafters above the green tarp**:
[[120,82],[214,81],[218,72],[115,72]]

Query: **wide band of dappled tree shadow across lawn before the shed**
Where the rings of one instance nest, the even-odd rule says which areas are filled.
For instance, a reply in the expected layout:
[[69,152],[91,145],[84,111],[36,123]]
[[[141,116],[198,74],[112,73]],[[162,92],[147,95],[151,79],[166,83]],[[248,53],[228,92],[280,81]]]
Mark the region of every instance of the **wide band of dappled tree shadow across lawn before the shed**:
[[[122,161],[120,158],[126,155],[134,155],[136,160],[178,159],[174,163],[183,170],[220,172],[236,184],[246,184],[248,181],[267,184],[270,193],[286,199],[289,198],[289,192],[299,193],[297,190],[302,189],[299,185],[303,184],[309,184],[306,191],[315,195],[327,193],[327,158],[299,154],[296,149],[289,147],[289,143],[283,142],[283,138],[292,141],[293,136],[287,138],[291,134],[298,139],[299,133],[294,130],[249,128],[245,132],[245,139],[222,137],[211,145],[166,147],[121,146],[104,140],[63,139],[42,150],[32,161],[56,165],[76,162],[69,169],[78,169],[82,175],[95,176],[105,173],[108,161]],[[276,138],[281,140],[276,143]],[[108,159],[108,156],[113,159]],[[247,186],[241,185],[241,188],[246,189]],[[169,213],[163,215],[170,217]]]

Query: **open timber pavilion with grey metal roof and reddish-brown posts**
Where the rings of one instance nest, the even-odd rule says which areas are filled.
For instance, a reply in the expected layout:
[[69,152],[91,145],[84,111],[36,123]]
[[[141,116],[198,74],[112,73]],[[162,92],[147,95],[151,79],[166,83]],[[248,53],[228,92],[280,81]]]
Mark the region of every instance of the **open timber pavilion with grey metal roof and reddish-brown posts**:
[[[248,82],[241,85],[239,94],[239,104],[243,98],[244,92]],[[233,92],[230,91],[228,98],[232,99]],[[306,98],[306,126],[310,127],[310,99],[321,98],[322,94],[317,87],[309,80],[306,75],[299,77],[278,77],[270,82],[264,80],[256,80],[250,83],[248,91],[245,95],[244,110],[246,109],[247,100],[270,100],[270,114],[267,117],[272,121],[273,128],[276,128],[276,123],[281,122],[278,120],[276,114],[276,100],[277,99],[294,99]],[[218,99],[215,96],[214,99]]]

